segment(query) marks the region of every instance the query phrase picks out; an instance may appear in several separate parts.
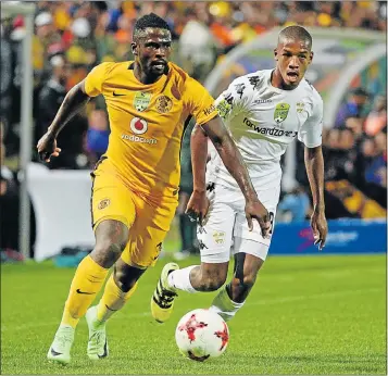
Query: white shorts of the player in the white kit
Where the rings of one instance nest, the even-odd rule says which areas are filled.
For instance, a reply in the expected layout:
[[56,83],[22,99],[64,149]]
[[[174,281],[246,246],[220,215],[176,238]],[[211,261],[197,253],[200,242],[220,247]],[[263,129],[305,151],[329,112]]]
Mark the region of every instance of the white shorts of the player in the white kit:
[[[250,231],[245,213],[246,200],[239,189],[231,189],[215,184],[208,191],[210,206],[203,226],[197,229],[201,252],[201,261],[205,263],[223,263],[229,261],[233,254],[245,252],[265,260],[275,227],[276,208],[280,195],[280,179],[271,184],[271,188],[256,189],[259,200],[270,212],[272,229],[268,238],[263,238],[256,220],[253,220],[253,230]],[[259,186],[259,184],[258,184]],[[240,238],[246,241],[235,241]],[[250,245],[243,249],[243,245]]]

